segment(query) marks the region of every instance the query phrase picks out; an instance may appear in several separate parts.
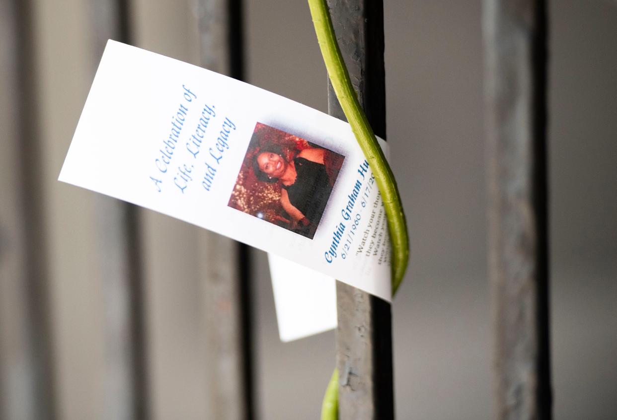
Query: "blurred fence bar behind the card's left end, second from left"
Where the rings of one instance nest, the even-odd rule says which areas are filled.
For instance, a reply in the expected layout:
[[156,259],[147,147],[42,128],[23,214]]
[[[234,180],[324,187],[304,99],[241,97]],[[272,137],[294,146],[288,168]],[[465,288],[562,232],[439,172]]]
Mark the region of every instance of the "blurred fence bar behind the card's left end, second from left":
[[[130,43],[129,10],[125,0],[91,0],[88,6],[94,74],[107,39]],[[94,200],[104,293],[104,416],[146,419],[145,327],[136,208],[105,196]]]

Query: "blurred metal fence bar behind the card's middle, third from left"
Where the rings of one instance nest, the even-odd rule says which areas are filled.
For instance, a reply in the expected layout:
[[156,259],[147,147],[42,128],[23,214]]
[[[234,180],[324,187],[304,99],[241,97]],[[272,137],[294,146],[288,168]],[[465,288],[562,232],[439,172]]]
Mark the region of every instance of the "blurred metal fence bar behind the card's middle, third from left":
[[[197,18],[201,64],[243,77],[240,0],[199,0]],[[215,233],[199,234],[201,274],[209,345],[208,374],[212,416],[222,420],[254,417],[249,323],[248,249]]]

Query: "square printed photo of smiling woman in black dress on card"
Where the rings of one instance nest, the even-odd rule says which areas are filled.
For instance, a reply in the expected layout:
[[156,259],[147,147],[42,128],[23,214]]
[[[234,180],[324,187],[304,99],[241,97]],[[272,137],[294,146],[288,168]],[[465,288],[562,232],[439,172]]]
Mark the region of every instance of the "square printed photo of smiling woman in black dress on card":
[[257,123],[228,205],[312,239],[344,159]]

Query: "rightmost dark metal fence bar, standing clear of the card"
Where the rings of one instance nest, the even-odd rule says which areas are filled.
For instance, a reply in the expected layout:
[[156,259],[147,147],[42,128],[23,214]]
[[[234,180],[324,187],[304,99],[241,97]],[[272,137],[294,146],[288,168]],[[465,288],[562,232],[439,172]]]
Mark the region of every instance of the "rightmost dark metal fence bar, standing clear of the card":
[[484,0],[495,418],[552,416],[546,5]]

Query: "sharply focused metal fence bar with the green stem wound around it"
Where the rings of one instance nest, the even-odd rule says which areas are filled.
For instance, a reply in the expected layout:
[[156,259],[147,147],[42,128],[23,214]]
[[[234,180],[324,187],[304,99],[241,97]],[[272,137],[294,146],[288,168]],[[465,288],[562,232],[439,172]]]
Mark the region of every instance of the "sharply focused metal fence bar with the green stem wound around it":
[[[337,41],[375,134],[386,136],[383,2],[329,0]],[[329,85],[328,113],[345,119]],[[390,304],[337,282],[339,418],[394,418]]]

